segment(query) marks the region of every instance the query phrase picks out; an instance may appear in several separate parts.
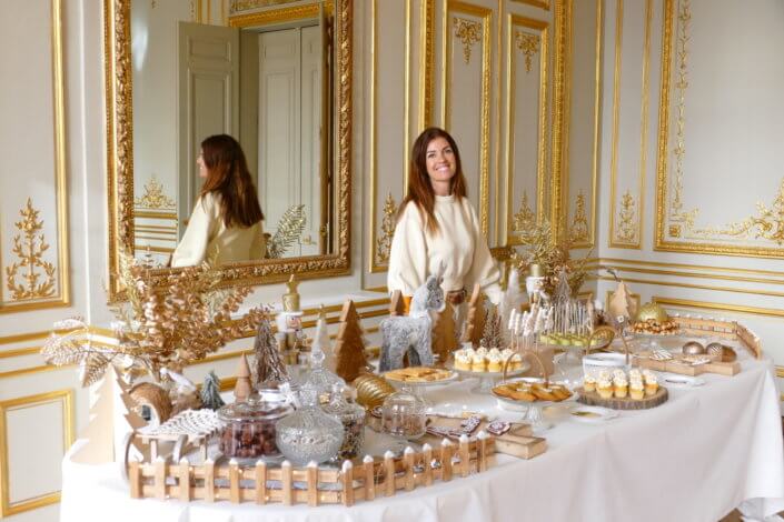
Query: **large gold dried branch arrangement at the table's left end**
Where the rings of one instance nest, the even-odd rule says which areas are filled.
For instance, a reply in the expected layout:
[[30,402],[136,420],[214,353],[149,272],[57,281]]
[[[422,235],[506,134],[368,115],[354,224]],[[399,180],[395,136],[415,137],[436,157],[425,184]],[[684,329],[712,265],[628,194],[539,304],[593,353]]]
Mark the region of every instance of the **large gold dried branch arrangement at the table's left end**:
[[220,272],[212,259],[169,275],[161,292],[150,284],[148,269],[123,253],[119,279],[128,289],[128,302],[111,309],[118,319],[112,323],[117,345],[95,343],[87,324],[77,318],[56,323],[56,330],[75,330],[52,333],[41,350],[50,364],[78,364],[86,387],[112,363],[145,370],[156,381],[163,368],[181,372],[245,337],[268,313],[254,308],[241,319],[232,319],[250,288],[218,290]]

